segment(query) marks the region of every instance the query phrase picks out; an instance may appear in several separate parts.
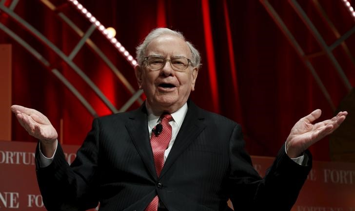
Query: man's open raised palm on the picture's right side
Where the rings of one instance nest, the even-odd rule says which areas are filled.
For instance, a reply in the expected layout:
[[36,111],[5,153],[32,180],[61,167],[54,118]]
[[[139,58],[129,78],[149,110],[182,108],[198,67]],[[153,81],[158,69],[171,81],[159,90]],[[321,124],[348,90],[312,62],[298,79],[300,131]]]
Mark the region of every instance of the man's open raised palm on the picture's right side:
[[290,158],[296,158],[312,144],[331,134],[345,120],[348,112],[341,111],[330,120],[312,124],[320,117],[322,111],[316,109],[309,115],[301,118],[291,129],[286,140],[286,151]]

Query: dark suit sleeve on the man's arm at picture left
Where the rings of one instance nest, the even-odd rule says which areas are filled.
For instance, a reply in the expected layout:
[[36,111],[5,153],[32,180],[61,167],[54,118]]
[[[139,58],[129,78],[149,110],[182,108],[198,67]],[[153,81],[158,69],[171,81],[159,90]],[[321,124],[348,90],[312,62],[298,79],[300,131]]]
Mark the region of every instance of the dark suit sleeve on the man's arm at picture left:
[[64,152],[58,144],[53,162],[40,168],[39,150],[36,149],[36,173],[43,203],[47,210],[87,210],[98,205],[98,159],[99,120],[77,152],[77,157],[68,165]]

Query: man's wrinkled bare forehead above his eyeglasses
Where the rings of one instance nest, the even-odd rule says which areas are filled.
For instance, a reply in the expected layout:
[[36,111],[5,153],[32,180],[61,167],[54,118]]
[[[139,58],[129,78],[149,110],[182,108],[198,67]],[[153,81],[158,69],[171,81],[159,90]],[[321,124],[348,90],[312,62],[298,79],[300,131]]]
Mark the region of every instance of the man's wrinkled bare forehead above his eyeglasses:
[[191,51],[185,40],[176,35],[161,35],[154,38],[145,51],[145,56],[149,55],[161,55],[164,57],[185,56],[191,59]]

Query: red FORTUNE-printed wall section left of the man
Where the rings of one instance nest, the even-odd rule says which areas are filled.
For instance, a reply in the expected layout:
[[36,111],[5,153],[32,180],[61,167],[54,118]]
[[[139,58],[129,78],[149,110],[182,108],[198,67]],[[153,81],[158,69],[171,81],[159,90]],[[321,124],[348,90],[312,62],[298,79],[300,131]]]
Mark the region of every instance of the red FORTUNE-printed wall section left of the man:
[[[37,143],[0,141],[0,211],[45,211],[35,171]],[[70,164],[79,146],[63,146]]]

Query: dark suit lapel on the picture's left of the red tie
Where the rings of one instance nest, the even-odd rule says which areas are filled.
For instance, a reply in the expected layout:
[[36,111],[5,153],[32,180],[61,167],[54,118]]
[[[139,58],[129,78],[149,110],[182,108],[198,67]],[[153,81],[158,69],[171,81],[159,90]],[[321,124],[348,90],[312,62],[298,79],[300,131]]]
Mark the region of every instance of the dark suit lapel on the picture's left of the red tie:
[[126,123],[126,128],[148,171],[154,178],[158,178],[149,141],[147,112],[144,103],[140,109],[132,112]]

